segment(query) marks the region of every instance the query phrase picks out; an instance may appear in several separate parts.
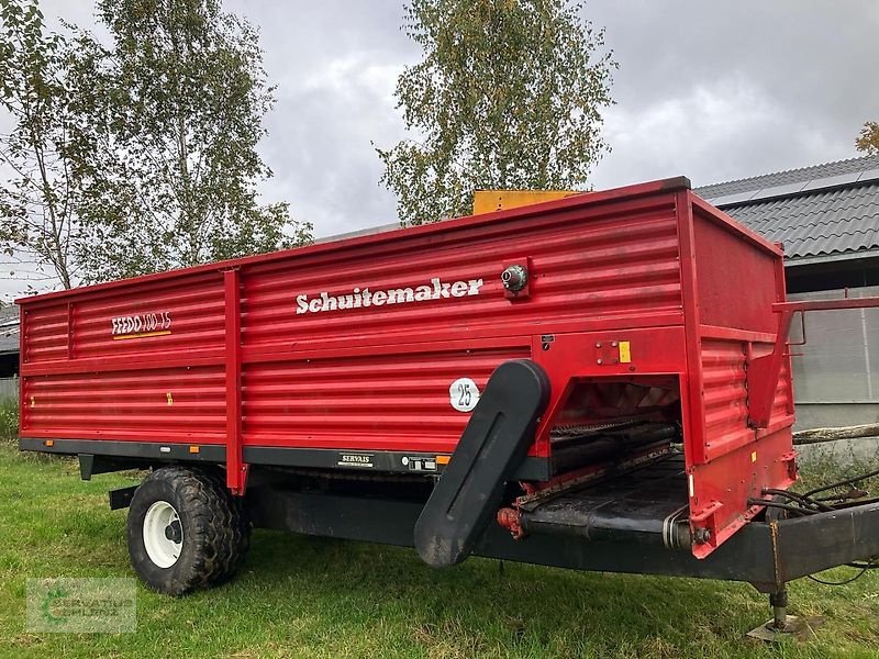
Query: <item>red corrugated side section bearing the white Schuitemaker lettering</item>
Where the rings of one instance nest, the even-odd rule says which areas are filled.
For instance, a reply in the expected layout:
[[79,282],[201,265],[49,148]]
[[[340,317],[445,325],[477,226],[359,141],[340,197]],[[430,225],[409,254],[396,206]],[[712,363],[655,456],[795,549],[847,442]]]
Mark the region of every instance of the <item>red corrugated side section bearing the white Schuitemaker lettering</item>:
[[[511,301],[499,273],[525,260],[531,295]],[[668,196],[340,246],[242,281],[247,445],[449,451],[468,418],[449,405],[458,378],[481,390],[534,334],[665,324],[681,304]],[[461,297],[419,301],[453,282]],[[305,311],[366,291],[368,308]],[[411,300],[377,305],[382,291]]]

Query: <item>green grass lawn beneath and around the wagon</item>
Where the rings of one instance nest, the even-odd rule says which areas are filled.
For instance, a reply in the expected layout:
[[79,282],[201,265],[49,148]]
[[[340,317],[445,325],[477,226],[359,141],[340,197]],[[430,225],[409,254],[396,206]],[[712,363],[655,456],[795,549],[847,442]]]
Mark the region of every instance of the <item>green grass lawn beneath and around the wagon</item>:
[[[82,482],[73,460],[0,443],[2,657],[879,657],[879,574],[791,585],[817,638],[745,633],[765,597],[735,583],[577,573],[470,559],[435,571],[413,550],[256,532],[230,584],[183,599],[138,585],[131,634],[29,634],[25,580],[127,577],[122,476]],[[827,578],[843,578],[846,569]]]

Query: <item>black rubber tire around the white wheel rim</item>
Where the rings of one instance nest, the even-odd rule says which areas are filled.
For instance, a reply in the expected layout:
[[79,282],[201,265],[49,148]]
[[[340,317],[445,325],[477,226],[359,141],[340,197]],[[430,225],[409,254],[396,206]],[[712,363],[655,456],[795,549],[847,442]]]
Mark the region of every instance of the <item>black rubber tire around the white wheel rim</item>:
[[[144,518],[157,501],[175,507],[183,533],[180,557],[169,568],[154,563],[144,546]],[[160,593],[182,595],[235,574],[251,544],[251,524],[241,498],[232,496],[220,472],[173,466],[155,470],[135,491],[127,537],[141,580]]]

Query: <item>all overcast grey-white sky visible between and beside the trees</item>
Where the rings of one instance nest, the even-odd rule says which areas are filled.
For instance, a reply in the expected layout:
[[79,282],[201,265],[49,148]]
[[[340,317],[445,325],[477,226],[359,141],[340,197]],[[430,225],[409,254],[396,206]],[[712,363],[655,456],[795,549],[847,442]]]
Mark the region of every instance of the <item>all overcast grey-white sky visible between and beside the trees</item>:
[[[47,19],[93,26],[90,0],[42,0]],[[420,52],[402,0],[225,0],[262,33],[278,86],[262,145],[289,201],[325,236],[396,220],[371,142],[404,137],[392,96]],[[879,119],[875,0],[591,0],[620,68],[605,113],[612,152],[596,188],[677,175],[708,185],[856,156]],[[23,289],[0,279],[0,297]]]

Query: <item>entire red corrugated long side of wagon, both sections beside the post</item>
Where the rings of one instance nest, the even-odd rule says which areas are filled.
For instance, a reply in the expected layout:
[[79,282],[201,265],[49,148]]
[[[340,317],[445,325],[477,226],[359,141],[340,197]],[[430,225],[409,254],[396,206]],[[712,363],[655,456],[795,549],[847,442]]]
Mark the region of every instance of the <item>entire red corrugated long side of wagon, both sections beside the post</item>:
[[[535,335],[679,325],[677,245],[652,185],[25,299],[22,434],[224,440],[237,268],[245,445],[450,451],[450,384],[481,389]],[[523,300],[499,278],[516,261]]]

